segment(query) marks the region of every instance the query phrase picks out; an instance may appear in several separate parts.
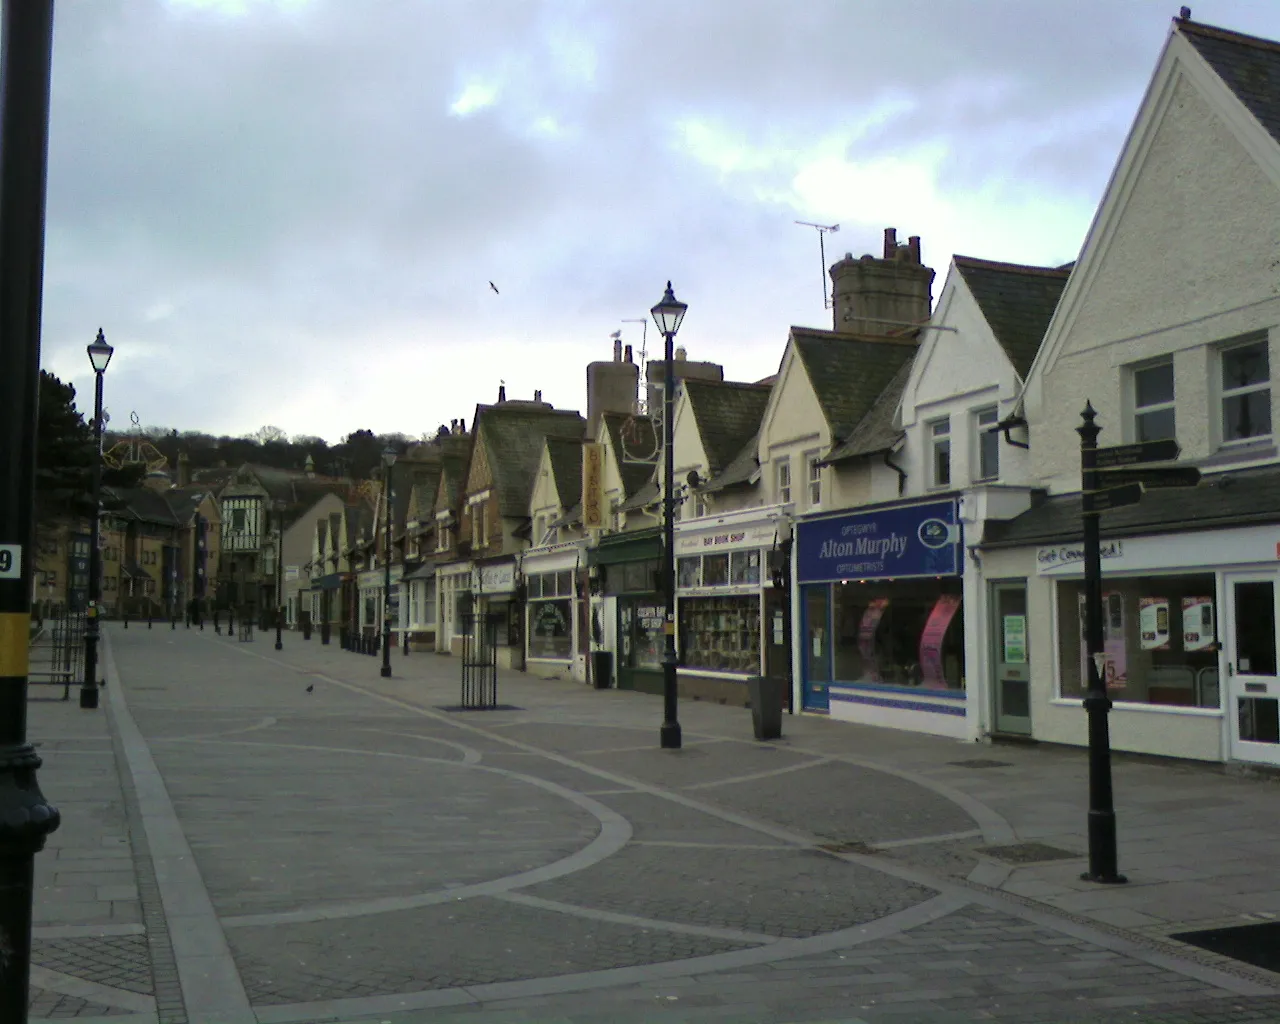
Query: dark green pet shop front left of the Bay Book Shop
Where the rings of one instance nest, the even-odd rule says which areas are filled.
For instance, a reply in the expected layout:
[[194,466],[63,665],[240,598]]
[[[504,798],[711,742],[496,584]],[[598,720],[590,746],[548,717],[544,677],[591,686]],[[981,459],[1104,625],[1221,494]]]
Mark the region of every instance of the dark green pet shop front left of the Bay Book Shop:
[[591,552],[595,598],[593,641],[613,653],[620,690],[662,692],[662,531],[634,530],[600,540]]

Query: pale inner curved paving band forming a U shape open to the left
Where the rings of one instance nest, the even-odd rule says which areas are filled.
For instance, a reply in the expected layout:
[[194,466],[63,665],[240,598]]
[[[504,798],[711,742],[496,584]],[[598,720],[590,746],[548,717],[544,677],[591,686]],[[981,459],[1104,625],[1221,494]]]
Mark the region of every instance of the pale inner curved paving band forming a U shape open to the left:
[[568,790],[554,782],[536,776],[526,776],[521,772],[512,772],[507,768],[493,768],[488,764],[463,764],[443,758],[428,758],[420,754],[394,754],[380,750],[357,750],[340,746],[320,746],[315,744],[273,744],[253,742],[248,740],[211,740],[210,742],[225,744],[228,746],[261,746],[269,749],[285,750],[315,750],[326,754],[355,754],[372,758],[392,758],[397,760],[413,760],[426,764],[449,764],[463,767],[476,772],[492,772],[504,776],[530,786],[545,790],[553,796],[576,804],[600,824],[600,831],[581,850],[566,858],[544,864],[540,868],[531,868],[527,872],[509,874],[504,878],[493,878],[488,882],[476,882],[470,886],[457,886],[456,888],[438,890],[435,892],[421,892],[410,896],[381,896],[371,900],[351,900],[347,902],[326,904],[324,906],[300,908],[298,910],[282,910],[269,914],[237,914],[223,918],[223,928],[260,928],[270,924],[301,924],[305,922],[338,920],[342,918],[361,918],[370,914],[389,914],[396,910],[413,910],[420,906],[433,906],[435,904],[454,902],[467,900],[472,896],[497,896],[525,886],[535,886],[540,882],[549,882],[553,878],[562,878],[573,874],[584,868],[590,868],[613,856],[618,850],[631,841],[631,823],[612,808],[604,806],[590,796],[582,796],[573,790]]

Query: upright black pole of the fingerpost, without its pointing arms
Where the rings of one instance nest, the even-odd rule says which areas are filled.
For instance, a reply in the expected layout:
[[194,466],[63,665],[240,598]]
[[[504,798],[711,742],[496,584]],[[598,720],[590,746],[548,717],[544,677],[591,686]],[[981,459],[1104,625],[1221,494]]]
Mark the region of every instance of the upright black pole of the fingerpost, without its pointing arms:
[[1084,502],[1084,635],[1089,689],[1084,710],[1089,716],[1089,869],[1087,882],[1119,884],[1128,879],[1116,870],[1116,812],[1111,794],[1111,733],[1107,714],[1111,699],[1103,678],[1102,547],[1093,494],[1098,490],[1097,448],[1102,428],[1091,402],[1080,413],[1080,485]]

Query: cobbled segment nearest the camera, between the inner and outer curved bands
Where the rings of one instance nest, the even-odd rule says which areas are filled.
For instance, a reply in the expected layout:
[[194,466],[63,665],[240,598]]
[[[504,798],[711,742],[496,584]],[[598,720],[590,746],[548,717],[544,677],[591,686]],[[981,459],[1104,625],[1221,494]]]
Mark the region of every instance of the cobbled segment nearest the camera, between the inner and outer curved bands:
[[255,1004],[420,992],[681,960],[740,943],[474,899],[227,933]]

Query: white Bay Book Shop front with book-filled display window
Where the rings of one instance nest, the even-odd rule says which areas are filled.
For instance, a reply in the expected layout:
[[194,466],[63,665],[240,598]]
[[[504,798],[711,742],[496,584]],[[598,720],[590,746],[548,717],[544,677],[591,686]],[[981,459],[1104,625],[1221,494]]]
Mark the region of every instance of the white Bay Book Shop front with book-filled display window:
[[748,701],[746,681],[765,673],[765,566],[777,539],[762,509],[677,525],[676,644],[682,696]]

